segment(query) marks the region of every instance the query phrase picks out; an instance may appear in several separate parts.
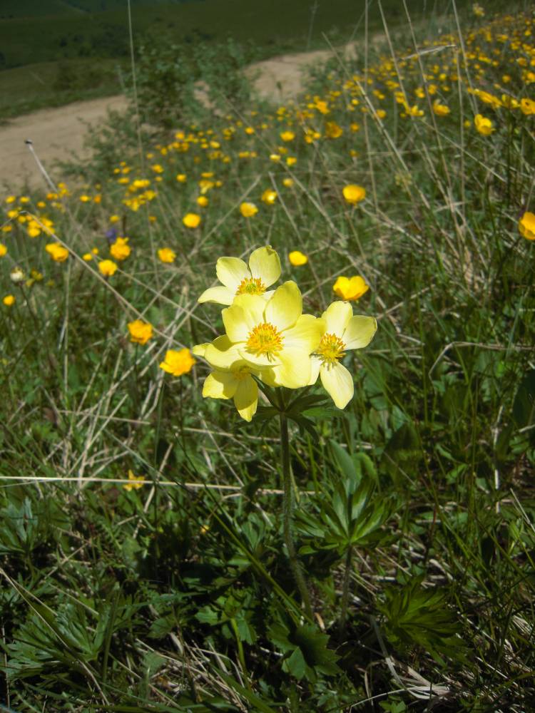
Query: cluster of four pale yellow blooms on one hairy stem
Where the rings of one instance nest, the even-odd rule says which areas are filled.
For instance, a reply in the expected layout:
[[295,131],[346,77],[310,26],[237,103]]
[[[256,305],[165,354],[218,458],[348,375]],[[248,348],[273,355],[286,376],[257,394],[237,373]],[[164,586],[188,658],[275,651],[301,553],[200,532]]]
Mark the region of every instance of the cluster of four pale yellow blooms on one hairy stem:
[[228,307],[221,314],[225,334],[193,348],[213,369],[203,396],[233,399],[240,416],[250,421],[258,407],[256,379],[299,389],[320,376],[335,405],[344,409],[354,386],[341,359],[347,350],[370,344],[375,319],[354,316],[348,302],[333,302],[321,317],[303,314],[302,295],[292,280],[267,289],[281,272],[279,256],[269,245],[254,250],[248,265],[238,257],[220,257],[215,272],[221,285],[206,289],[198,301]]

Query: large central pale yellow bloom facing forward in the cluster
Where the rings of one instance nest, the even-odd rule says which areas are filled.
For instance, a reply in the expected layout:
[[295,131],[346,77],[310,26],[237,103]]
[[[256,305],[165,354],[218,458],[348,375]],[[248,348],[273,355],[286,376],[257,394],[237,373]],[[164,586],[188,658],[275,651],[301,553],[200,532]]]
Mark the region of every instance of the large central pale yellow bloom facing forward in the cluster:
[[298,389],[308,384],[310,354],[320,344],[325,324],[302,314],[295,282],[281,284],[267,301],[258,294],[238,294],[221,316],[226,337],[206,349],[210,364],[230,369],[243,359],[270,386]]

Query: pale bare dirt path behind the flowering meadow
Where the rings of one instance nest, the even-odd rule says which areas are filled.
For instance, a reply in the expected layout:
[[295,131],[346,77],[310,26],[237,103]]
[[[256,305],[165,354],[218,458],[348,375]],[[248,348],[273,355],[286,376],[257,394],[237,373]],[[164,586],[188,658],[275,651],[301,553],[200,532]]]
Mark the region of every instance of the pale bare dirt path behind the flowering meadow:
[[[347,51],[352,50],[353,46],[348,46]],[[255,88],[260,96],[287,101],[302,89],[302,69],[325,61],[330,54],[330,51],[320,50],[282,55],[255,63],[247,72],[252,78],[256,77]],[[54,161],[66,159],[72,153],[83,158],[83,136],[88,130],[85,123],[91,124],[91,130],[98,130],[98,121],[106,118],[109,109],[124,108],[126,99],[112,96],[42,109],[0,126],[0,187],[15,191],[24,182],[32,187],[45,185],[25,144],[26,139],[31,139],[36,154],[54,180],[61,180],[61,175],[54,173]]]

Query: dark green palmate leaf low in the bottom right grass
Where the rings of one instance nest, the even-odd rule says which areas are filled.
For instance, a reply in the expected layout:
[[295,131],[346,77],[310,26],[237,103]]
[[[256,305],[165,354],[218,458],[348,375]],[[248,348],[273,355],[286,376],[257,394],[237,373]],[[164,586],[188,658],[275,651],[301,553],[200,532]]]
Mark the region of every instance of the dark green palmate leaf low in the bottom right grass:
[[403,588],[389,588],[378,608],[385,617],[387,639],[401,649],[419,645],[437,662],[442,655],[463,661],[462,630],[455,612],[447,606],[442,590],[422,587],[422,577]]

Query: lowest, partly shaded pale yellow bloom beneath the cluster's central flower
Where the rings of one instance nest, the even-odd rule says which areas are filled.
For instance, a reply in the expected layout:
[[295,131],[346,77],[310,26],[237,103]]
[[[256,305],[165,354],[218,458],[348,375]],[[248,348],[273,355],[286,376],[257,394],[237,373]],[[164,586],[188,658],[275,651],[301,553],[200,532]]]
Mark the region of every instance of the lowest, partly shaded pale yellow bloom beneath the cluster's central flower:
[[258,376],[260,372],[252,369],[247,361],[240,358],[231,362],[229,366],[218,369],[216,364],[211,364],[206,356],[207,352],[208,356],[211,354],[213,357],[218,354],[218,343],[223,344],[224,347],[225,337],[218,337],[213,344],[198,344],[193,347],[193,353],[203,356],[214,368],[214,371],[208,374],[204,381],[203,397],[205,399],[233,399],[236,410],[242,419],[251,421],[258,408],[258,384],[252,374]]

